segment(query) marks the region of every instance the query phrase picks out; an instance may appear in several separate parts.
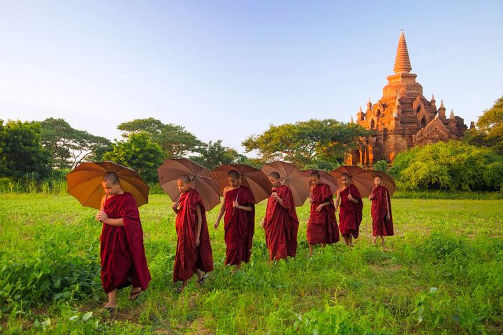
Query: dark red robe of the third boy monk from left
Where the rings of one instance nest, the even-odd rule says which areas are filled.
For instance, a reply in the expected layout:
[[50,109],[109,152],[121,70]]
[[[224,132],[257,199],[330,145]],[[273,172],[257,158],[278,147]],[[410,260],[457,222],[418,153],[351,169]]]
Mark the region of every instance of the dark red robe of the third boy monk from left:
[[[236,200],[237,198],[237,200]],[[240,206],[250,204],[252,211],[233,207],[237,201]],[[255,232],[255,205],[251,191],[240,186],[225,194],[224,240],[226,242],[226,265],[240,265],[249,262],[251,244]]]

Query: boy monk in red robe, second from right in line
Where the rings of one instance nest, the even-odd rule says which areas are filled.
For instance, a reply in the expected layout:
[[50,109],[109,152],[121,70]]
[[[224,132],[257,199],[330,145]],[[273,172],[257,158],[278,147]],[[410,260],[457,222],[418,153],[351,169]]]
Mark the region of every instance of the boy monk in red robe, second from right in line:
[[363,202],[360,191],[356,186],[349,184],[349,174],[341,176],[342,187],[337,190],[335,206],[340,202],[339,228],[344,237],[344,243],[353,247],[353,237],[358,239],[362,219]]

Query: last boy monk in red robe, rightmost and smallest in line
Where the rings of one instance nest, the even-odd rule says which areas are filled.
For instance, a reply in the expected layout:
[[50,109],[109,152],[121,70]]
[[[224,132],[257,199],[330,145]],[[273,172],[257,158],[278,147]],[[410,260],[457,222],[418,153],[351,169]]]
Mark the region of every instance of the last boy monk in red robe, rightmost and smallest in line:
[[393,236],[393,217],[391,216],[391,200],[388,188],[381,185],[382,177],[374,178],[375,187],[369,195],[372,201],[370,214],[372,215],[372,244],[376,244],[377,237],[381,237],[381,246],[385,236]]

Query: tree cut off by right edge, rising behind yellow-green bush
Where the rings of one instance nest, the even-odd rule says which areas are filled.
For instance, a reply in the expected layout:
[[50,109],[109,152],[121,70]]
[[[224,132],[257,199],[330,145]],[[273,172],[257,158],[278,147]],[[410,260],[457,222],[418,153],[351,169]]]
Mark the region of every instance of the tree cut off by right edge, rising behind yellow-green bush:
[[492,108],[484,110],[476,128],[465,131],[465,141],[479,147],[488,147],[503,156],[503,96]]

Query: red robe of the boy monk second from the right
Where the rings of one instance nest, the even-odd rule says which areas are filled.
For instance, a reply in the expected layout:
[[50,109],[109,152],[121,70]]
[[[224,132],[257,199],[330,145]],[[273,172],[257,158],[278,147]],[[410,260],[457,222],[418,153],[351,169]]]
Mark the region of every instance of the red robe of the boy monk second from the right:
[[[347,197],[351,196],[358,200],[358,204],[353,203]],[[360,223],[362,219],[363,202],[360,191],[354,185],[349,185],[344,190],[340,191],[340,207],[339,207],[339,228],[343,237],[353,235],[355,239],[360,234]]]

